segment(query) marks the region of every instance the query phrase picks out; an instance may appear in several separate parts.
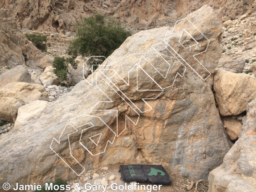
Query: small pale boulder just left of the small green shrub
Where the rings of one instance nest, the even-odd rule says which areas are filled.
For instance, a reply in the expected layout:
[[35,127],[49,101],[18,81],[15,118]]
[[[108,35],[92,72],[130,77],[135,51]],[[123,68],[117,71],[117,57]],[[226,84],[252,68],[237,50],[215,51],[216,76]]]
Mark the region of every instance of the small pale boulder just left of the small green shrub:
[[59,78],[54,74],[52,66],[45,68],[44,72],[39,76],[40,81],[43,85],[60,85]]

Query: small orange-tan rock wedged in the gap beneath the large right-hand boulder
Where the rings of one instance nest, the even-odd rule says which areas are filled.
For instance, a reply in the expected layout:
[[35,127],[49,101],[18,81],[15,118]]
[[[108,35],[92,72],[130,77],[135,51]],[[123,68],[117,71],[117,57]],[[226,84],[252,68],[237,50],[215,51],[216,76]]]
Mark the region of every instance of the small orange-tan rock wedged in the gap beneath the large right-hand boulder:
[[237,140],[243,124],[239,120],[233,119],[232,116],[223,117],[222,120],[223,124],[226,126],[226,130],[230,138],[232,140]]

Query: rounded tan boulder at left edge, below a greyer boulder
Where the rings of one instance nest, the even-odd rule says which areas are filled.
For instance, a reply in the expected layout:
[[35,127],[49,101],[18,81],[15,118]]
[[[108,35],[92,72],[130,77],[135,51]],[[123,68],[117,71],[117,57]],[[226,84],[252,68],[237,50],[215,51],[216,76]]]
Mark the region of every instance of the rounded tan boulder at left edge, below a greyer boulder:
[[24,82],[7,84],[0,88],[0,119],[14,122],[18,109],[35,100],[48,100],[45,88]]

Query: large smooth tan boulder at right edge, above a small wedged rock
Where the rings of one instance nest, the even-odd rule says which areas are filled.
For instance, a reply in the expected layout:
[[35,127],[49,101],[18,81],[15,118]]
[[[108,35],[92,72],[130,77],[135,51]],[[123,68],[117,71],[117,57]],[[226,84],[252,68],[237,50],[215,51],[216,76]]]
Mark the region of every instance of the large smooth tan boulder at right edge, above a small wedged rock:
[[238,115],[255,99],[256,78],[218,70],[214,76],[215,98],[222,116]]

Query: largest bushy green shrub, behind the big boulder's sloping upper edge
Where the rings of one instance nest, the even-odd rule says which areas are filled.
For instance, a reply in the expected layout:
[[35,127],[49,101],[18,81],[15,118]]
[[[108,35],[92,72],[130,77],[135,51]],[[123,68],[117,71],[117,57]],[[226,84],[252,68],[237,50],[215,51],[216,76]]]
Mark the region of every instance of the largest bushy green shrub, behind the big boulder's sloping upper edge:
[[[84,18],[75,25],[76,38],[70,41],[67,53],[82,57],[105,56],[119,48],[131,32],[122,28],[121,23],[112,17],[96,14]],[[100,64],[104,59],[92,60],[90,65]]]

